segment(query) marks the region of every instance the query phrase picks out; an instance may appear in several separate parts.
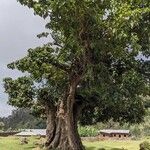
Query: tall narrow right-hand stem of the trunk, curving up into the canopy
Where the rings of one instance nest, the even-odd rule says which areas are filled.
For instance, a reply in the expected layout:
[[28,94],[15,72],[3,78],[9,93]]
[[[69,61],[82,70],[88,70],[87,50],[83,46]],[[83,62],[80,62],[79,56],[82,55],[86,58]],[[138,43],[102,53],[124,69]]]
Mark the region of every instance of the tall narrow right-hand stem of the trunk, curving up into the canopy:
[[79,82],[79,78],[73,79],[70,83],[69,94],[67,97],[67,114],[66,114],[66,127],[69,144],[72,150],[83,150],[84,147],[82,145],[80,136],[77,130],[77,111],[76,101],[75,101],[75,90],[76,86]]

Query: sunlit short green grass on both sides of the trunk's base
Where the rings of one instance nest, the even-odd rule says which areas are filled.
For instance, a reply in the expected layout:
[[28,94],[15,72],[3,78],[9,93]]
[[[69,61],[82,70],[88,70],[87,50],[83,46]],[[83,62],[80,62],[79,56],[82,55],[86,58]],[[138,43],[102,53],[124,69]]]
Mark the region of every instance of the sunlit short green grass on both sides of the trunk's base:
[[[100,148],[105,148],[106,150],[111,150],[112,148],[125,148],[128,150],[139,150],[139,144],[142,141],[149,141],[150,138],[145,138],[139,141],[98,141],[98,142],[83,142],[87,150],[98,150]],[[20,144],[20,138],[18,137],[0,137],[0,150],[40,150],[35,146],[38,142],[36,138],[29,138],[29,143],[27,145]]]

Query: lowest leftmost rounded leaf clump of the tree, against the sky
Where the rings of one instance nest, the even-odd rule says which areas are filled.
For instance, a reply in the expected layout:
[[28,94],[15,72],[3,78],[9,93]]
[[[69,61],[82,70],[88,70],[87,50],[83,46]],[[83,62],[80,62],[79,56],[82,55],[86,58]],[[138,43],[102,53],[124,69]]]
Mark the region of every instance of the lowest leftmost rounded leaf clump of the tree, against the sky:
[[28,77],[4,79],[5,92],[9,94],[9,104],[17,107],[30,107],[34,99],[34,83]]

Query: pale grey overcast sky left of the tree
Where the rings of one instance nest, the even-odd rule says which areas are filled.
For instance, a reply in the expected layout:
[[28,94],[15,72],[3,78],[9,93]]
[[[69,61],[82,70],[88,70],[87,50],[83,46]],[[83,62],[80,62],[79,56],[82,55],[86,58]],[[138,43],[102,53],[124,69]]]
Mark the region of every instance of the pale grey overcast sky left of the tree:
[[21,73],[7,69],[7,64],[25,56],[27,49],[44,43],[36,37],[44,31],[45,21],[17,0],[0,0],[0,117],[8,116],[12,107],[7,105],[2,80]]

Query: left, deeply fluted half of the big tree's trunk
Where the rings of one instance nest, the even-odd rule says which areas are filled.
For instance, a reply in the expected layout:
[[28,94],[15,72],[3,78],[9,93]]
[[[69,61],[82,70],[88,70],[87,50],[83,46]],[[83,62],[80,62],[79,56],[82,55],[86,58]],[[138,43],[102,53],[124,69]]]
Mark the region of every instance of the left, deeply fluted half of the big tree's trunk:
[[67,139],[62,102],[57,109],[54,106],[46,106],[47,129],[45,147],[47,150],[71,150]]

